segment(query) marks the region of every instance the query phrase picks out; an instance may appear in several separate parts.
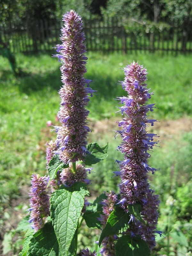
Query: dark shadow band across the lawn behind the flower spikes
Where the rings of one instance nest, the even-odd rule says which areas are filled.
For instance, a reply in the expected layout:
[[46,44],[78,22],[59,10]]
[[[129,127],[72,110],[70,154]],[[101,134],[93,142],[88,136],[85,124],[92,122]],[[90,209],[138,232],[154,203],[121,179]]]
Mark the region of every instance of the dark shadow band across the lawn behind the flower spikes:
[[[7,80],[10,77],[10,72],[3,70],[1,74],[2,80]],[[112,100],[113,98],[120,97],[123,95],[124,90],[122,86],[118,83],[118,78],[112,78],[111,76],[98,76],[97,74],[91,74],[85,76],[87,79],[91,79],[94,82],[90,84],[90,87],[97,91],[99,97],[106,100]],[[60,90],[62,86],[61,82],[61,72],[59,69],[55,70],[52,73],[43,73],[43,74],[33,74],[20,71],[20,76],[16,76],[16,81],[21,93],[30,94],[32,92],[42,91],[46,87],[51,88],[52,90]]]

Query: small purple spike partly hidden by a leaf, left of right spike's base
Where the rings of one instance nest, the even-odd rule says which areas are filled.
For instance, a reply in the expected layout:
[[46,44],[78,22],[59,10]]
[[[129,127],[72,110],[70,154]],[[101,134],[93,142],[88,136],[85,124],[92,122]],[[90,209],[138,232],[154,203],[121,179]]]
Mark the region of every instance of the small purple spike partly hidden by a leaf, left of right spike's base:
[[[105,194],[108,196],[107,199],[104,199],[102,202],[103,205],[103,213],[104,215],[100,215],[99,220],[101,221],[101,224],[103,228],[105,227],[108,217],[111,212],[115,209],[115,204],[117,202],[117,196],[113,191],[110,191],[110,193],[105,192]],[[103,239],[102,245],[103,248],[101,248],[100,253],[103,256],[115,256],[115,242],[117,240],[118,236],[106,236]]]

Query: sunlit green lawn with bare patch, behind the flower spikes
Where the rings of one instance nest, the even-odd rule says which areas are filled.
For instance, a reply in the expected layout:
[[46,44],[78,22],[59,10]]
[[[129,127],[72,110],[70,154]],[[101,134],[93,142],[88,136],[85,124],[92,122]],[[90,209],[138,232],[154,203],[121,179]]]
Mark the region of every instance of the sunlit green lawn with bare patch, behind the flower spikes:
[[[92,128],[89,142],[99,142],[101,146],[109,142],[108,159],[96,164],[95,173],[91,174],[94,180],[92,195],[118,189],[119,180],[117,177],[111,179],[111,172],[116,171],[114,159],[120,160],[122,156],[115,150],[120,138],[114,139],[113,130],[122,116],[114,113],[118,110],[118,101],[113,99],[125,95],[121,85],[116,84],[124,79],[124,71],[120,68],[138,60],[148,69],[148,88],[154,92],[149,101],[159,108],[150,112],[150,117],[162,121],[162,125],[157,124],[154,128],[161,135],[160,148],[155,148],[150,158],[153,167],[161,168],[150,176],[162,200],[159,228],[166,233],[167,218],[172,216],[172,225],[185,234],[188,242],[191,241],[192,129],[188,122],[192,125],[192,55],[174,57],[138,52],[103,56],[90,52],[87,56],[86,78],[94,80],[91,87],[99,94],[93,95],[88,106]],[[53,125],[58,124],[58,90],[62,85],[60,63],[51,58],[51,54],[17,54],[16,60],[22,70],[20,77],[13,76],[8,61],[0,56],[0,195],[12,200],[19,198],[25,185],[30,186],[32,173],[46,174],[44,144],[56,137],[46,122],[51,120]],[[161,254],[166,253],[166,239],[159,240],[157,251],[164,248]],[[174,253],[184,246],[174,239],[171,243],[173,253],[170,255],[176,255]],[[187,250],[192,250],[192,244],[188,244]]]

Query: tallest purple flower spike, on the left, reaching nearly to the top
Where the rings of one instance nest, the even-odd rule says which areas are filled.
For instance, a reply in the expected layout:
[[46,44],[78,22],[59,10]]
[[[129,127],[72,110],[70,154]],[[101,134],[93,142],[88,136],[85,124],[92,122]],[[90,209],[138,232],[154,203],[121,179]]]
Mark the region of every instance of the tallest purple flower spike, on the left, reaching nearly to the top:
[[[58,57],[62,66],[63,87],[60,89],[61,107],[58,113],[62,126],[55,127],[57,142],[60,144],[58,154],[64,163],[84,160],[86,153],[86,138],[90,132],[87,126],[89,111],[85,108],[89,102],[88,94],[95,92],[89,88],[92,80],[84,78],[87,72],[85,68],[87,57],[83,43],[85,37],[82,32],[83,23],[76,12],[70,11],[63,16],[65,22],[61,29],[61,45],[57,46]],[[85,87],[87,85],[87,87]]]

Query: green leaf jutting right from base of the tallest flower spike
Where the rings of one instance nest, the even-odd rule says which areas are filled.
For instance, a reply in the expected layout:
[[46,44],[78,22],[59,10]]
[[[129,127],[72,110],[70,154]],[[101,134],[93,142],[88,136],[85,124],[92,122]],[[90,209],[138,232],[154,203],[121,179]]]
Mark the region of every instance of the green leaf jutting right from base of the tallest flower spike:
[[104,147],[100,147],[97,143],[89,143],[87,144],[87,150],[90,154],[87,153],[84,159],[86,165],[96,164],[108,157],[108,143]]

